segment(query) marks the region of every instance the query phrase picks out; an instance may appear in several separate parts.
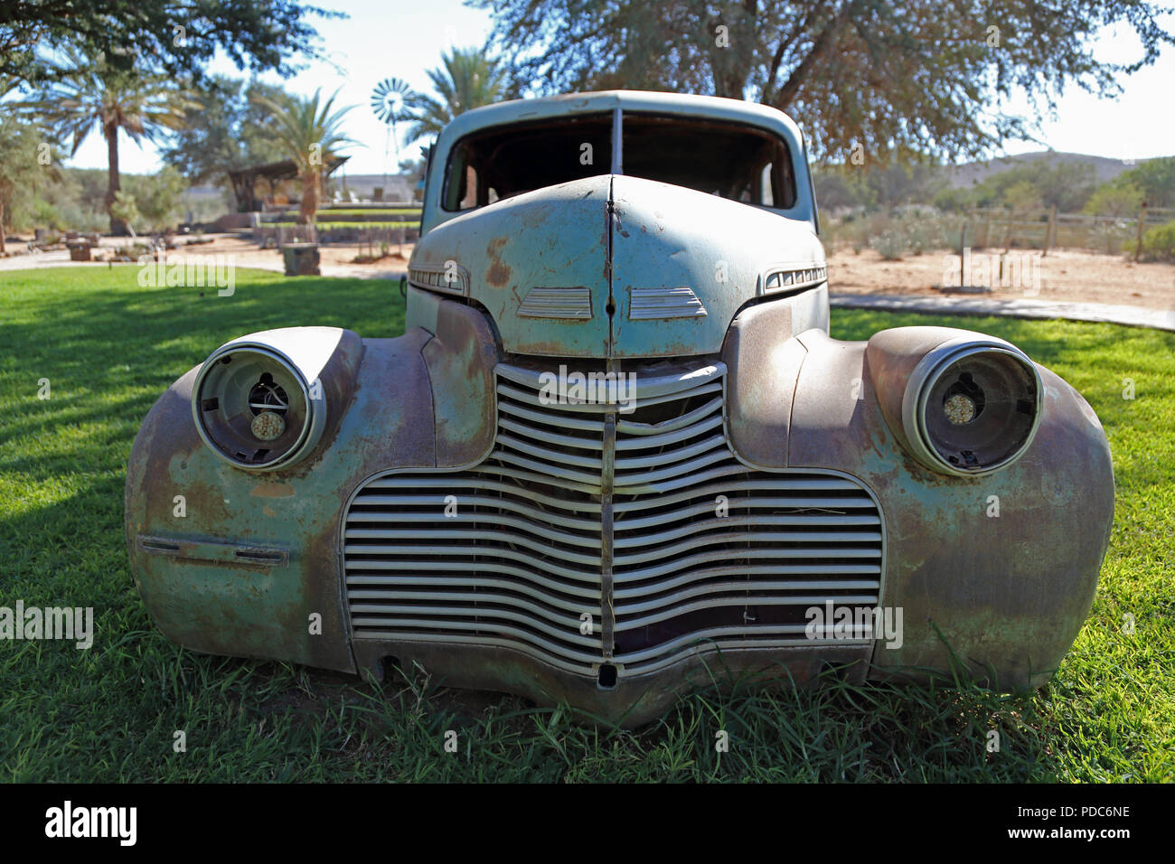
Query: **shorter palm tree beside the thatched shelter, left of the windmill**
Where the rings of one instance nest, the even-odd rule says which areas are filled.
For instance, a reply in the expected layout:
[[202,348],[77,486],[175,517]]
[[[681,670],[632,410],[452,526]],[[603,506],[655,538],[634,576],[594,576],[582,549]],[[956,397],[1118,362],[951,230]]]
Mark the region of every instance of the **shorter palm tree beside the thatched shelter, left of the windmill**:
[[264,96],[255,100],[273,114],[277,142],[297,167],[302,181],[302,206],[298,208],[302,225],[314,222],[325,166],[338,149],[355,143],[338,128],[343,116],[355,106],[348,105],[333,112],[337,95],[336,91],[324,105],[320,105],[320,91],[315,91],[310,99],[290,96],[284,103]]

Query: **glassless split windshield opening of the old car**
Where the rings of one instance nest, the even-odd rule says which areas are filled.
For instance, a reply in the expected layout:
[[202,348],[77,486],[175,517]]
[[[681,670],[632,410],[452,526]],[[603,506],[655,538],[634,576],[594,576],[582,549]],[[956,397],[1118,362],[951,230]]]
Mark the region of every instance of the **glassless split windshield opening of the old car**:
[[[764,207],[795,203],[787,145],[743,123],[625,113],[623,172]],[[612,114],[498,127],[454,147],[445,210],[483,207],[532,189],[609,174]]]

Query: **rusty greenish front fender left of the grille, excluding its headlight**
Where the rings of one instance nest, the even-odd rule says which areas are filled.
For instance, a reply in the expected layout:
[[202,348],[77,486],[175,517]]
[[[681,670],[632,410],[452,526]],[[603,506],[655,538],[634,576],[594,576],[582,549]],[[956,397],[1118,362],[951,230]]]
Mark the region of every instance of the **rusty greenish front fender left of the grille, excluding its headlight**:
[[[494,344],[484,319],[456,303],[435,334],[344,331],[322,376],[337,382],[324,383],[327,433],[303,462],[269,473],[204,444],[192,416],[200,367],[184,374],[150,409],[127,469],[130,572],[160,630],[206,654],[355,671],[340,580],[344,507],[376,473],[456,467],[489,450],[492,426],[478,437],[476,420],[461,417],[494,410]],[[464,407],[436,391],[459,393]]]

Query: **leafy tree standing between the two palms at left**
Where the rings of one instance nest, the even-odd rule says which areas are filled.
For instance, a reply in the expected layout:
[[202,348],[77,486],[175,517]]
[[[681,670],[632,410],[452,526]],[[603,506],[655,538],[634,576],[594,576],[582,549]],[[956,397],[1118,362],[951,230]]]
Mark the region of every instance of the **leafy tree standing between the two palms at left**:
[[273,114],[264,99],[288,105],[278,86],[248,83],[216,75],[194,91],[199,108],[186,113],[184,125],[172,134],[170,146],[160,154],[192,183],[227,183],[226,172],[284,158],[276,141]]

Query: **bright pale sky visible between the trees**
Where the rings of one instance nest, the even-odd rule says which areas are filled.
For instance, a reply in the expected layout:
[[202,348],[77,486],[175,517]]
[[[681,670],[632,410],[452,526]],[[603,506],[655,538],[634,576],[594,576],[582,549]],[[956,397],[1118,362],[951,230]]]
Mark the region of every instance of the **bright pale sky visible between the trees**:
[[[461,0],[316,0],[316,5],[350,15],[343,21],[316,21],[327,52],[340,69],[315,63],[287,80],[284,86],[304,95],[320,87],[323,93],[340,89],[337,103],[356,106],[347,116],[347,134],[365,145],[349,150],[348,173],[382,173],[385,127],[369,107],[371,88],[395,75],[416,89],[429,91],[425,71],[439,66],[441,54],[452,46],[482,45],[490,31],[489,15],[466,8]],[[1103,32],[1096,53],[1102,60],[1129,61],[1140,52],[1133,32],[1123,28],[1116,33]],[[214,71],[240,74],[227,61],[215,65]],[[267,80],[277,82],[280,79],[267,76]],[[1047,146],[1113,159],[1175,154],[1175,112],[1170,109],[1175,49],[1167,49],[1154,66],[1123,79],[1122,85],[1123,93],[1117,100],[1097,100],[1075,88],[1067,92],[1056,118],[1047,119],[1042,126],[1041,138]],[[1029,110],[1022,98],[1009,107],[1016,113]],[[1035,142],[1006,142],[1008,153],[1041,148]],[[150,145],[140,148],[123,140],[120,156],[125,172],[147,173],[161,167]],[[80,168],[105,168],[106,145],[92,134],[68,163]],[[389,168],[395,165],[394,155],[387,163]]]

